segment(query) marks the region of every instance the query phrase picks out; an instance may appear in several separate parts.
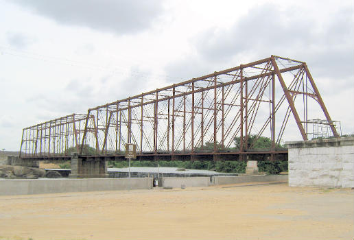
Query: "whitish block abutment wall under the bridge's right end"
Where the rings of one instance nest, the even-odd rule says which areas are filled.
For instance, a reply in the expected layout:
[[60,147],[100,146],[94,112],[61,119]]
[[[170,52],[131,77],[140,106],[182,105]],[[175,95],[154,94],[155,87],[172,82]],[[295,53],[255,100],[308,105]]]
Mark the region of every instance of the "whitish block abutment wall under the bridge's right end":
[[290,186],[354,187],[354,137],[285,144]]

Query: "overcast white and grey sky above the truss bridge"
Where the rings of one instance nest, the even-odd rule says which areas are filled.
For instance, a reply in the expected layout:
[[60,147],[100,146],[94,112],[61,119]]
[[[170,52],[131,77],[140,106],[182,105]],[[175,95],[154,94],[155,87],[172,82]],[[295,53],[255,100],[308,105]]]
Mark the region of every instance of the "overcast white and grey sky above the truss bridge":
[[354,132],[353,0],[0,0],[0,149],[30,125],[272,54],[307,62]]

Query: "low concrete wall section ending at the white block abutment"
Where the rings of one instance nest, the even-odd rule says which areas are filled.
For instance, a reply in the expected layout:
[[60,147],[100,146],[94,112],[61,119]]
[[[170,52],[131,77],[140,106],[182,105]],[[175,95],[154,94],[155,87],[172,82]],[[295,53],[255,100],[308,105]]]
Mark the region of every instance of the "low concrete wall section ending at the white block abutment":
[[215,185],[235,184],[242,182],[287,182],[287,175],[213,177],[213,184]]

